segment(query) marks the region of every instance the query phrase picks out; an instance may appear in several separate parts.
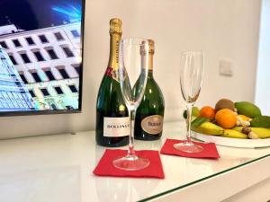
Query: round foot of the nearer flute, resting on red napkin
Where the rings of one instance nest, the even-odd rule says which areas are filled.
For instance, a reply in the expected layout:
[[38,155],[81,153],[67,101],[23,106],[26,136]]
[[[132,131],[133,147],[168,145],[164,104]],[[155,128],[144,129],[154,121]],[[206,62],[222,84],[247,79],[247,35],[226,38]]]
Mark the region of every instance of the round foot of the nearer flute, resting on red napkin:
[[139,158],[138,156],[125,156],[112,162],[115,168],[124,171],[139,171],[148,167],[148,159]]

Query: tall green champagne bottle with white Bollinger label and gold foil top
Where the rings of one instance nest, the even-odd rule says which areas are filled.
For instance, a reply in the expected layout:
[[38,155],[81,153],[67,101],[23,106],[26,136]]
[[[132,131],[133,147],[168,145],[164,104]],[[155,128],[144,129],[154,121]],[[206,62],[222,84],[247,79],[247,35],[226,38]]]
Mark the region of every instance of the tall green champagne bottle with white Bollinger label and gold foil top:
[[95,140],[98,145],[121,146],[129,144],[129,111],[121,95],[119,82],[119,45],[121,20],[110,21],[110,58],[96,101]]

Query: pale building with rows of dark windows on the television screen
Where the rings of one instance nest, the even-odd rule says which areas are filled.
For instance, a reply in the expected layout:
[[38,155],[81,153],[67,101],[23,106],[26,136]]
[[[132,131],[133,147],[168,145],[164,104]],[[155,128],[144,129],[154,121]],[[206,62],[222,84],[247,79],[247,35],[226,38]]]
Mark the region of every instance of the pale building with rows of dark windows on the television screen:
[[4,32],[0,45],[27,86],[35,106],[39,110],[78,109],[80,22],[33,31],[6,26],[0,27],[0,33]]

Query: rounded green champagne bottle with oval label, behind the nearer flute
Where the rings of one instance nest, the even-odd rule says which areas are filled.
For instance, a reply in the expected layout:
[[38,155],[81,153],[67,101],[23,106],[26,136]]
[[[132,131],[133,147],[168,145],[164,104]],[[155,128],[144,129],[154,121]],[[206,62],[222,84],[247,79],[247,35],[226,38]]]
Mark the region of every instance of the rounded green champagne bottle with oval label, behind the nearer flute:
[[[153,77],[154,40],[148,40],[148,44],[148,81],[135,117],[134,138],[140,140],[159,139],[162,136],[164,119],[163,94]],[[136,85],[133,90],[136,93]]]

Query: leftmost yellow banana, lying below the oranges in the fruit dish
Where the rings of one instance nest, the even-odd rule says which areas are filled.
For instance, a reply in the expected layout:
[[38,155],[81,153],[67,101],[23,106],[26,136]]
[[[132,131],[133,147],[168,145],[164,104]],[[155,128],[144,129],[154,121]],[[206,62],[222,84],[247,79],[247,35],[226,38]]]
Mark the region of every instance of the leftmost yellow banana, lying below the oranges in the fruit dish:
[[192,127],[193,131],[202,133],[205,135],[215,135],[220,136],[223,134],[224,129],[222,127],[219,127],[211,122],[204,122],[199,127]]

